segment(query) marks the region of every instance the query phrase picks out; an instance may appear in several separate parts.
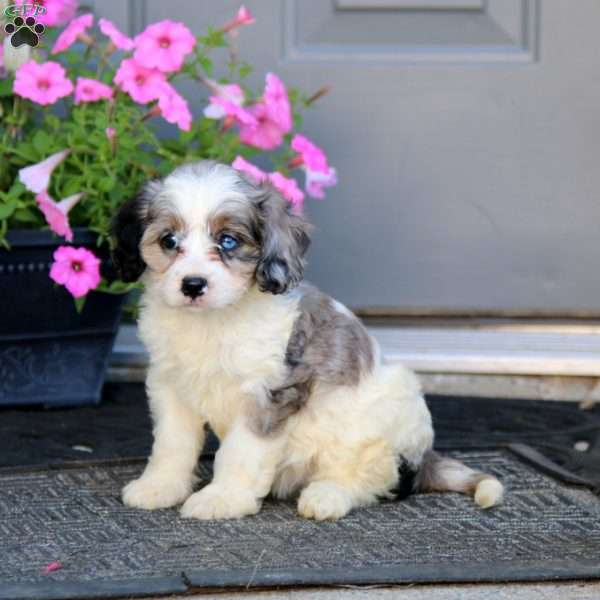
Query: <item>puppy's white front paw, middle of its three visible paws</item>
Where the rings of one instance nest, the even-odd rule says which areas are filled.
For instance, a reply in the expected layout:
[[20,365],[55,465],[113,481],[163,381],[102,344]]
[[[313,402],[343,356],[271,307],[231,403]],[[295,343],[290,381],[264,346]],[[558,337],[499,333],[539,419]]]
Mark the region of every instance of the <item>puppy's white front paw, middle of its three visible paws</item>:
[[255,515],[260,510],[260,500],[244,489],[230,489],[211,483],[192,494],[181,507],[186,519],[239,519]]

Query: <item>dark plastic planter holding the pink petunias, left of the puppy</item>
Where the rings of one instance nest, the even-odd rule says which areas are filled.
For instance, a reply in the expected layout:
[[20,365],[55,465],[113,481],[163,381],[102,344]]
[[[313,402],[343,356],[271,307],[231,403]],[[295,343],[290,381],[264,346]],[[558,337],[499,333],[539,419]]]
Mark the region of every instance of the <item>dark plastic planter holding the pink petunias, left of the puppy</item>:
[[[60,240],[26,230],[8,239],[10,251],[0,249],[0,406],[99,402],[123,297],[92,292],[78,314],[49,277]],[[86,230],[73,244],[97,252]]]

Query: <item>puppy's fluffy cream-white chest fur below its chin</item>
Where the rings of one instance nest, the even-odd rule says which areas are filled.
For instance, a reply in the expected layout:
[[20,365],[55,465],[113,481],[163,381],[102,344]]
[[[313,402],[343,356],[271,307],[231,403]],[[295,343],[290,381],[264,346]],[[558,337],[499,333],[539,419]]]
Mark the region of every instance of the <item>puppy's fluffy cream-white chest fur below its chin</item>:
[[285,380],[297,305],[293,295],[250,292],[231,309],[185,313],[148,292],[140,336],[151,368],[222,437],[249,401]]

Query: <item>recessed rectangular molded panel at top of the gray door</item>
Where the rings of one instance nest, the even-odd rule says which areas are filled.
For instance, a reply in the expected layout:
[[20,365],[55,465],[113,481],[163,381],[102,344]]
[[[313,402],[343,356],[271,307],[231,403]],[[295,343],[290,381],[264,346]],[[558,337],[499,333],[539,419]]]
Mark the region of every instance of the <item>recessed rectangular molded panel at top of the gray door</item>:
[[285,9],[285,57],[323,66],[530,62],[539,14],[530,0],[286,0]]

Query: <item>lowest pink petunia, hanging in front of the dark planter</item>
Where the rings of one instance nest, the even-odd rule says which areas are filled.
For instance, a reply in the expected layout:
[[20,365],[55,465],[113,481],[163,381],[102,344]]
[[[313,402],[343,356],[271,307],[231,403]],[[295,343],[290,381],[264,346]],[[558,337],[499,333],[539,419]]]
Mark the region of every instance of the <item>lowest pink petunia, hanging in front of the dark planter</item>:
[[54,252],[50,278],[82,298],[100,285],[100,259],[87,248],[59,246]]

